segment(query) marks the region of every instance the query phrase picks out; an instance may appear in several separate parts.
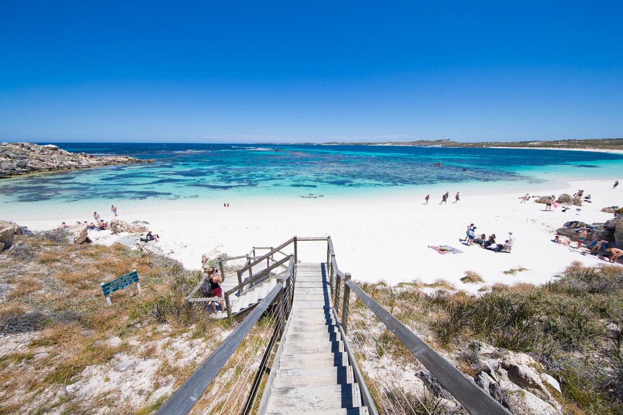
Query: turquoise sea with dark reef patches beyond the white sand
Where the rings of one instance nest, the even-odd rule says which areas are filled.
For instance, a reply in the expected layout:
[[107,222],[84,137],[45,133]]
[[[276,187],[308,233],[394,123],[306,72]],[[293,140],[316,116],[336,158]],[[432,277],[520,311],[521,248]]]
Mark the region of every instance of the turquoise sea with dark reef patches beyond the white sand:
[[[526,185],[614,178],[623,155],[589,151],[408,146],[57,143],[68,151],[155,163],[0,181],[0,215],[102,204],[240,203],[307,196],[389,197],[523,191]],[[275,151],[275,149],[279,151]],[[433,163],[442,163],[434,167]],[[464,171],[465,169],[465,171]],[[439,195],[437,195],[439,193]],[[60,207],[62,206],[62,207]],[[100,207],[101,209],[101,207]],[[90,209],[93,210],[93,209]]]

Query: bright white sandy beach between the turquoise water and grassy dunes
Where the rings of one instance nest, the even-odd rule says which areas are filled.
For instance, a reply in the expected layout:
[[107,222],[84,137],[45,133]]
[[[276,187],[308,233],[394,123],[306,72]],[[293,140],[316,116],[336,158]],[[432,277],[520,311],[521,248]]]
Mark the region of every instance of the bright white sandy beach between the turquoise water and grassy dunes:
[[[125,215],[123,206],[119,209],[120,219],[124,221],[150,222],[151,229],[161,237],[157,246],[193,269],[200,267],[201,255],[206,252],[243,255],[252,246],[278,246],[294,235],[330,235],[340,269],[351,272],[353,279],[387,280],[391,284],[444,279],[475,292],[483,284],[462,284],[460,278],[466,270],[482,275],[487,285],[544,283],[574,260],[588,265],[605,264],[603,260],[581,255],[577,250],[550,240],[554,230],[566,221],[592,223],[610,219],[612,214],[599,210],[604,206],[623,206],[623,189],[611,189],[612,182],[571,182],[567,189],[534,193],[573,194],[584,189],[585,195],[592,195],[592,203],[584,203],[581,211],[573,207],[567,212],[561,212],[561,207],[543,211],[545,205],[533,201],[520,204],[521,194],[470,196],[462,193],[460,202],[454,204],[454,189],[449,189],[447,205],[439,205],[440,195],[432,196],[429,205],[424,205],[425,195],[422,194],[407,199],[362,199],[348,203],[301,199],[229,208],[217,204],[201,210],[195,206],[194,209]],[[530,193],[531,189],[526,187],[526,192]],[[182,204],[180,206],[183,208]],[[71,224],[91,219],[89,213],[66,217],[65,221]],[[110,215],[103,217],[110,219]],[[477,226],[477,234],[495,233],[498,243],[503,243],[508,232],[513,231],[516,242],[512,252],[496,253],[478,246],[464,246],[459,238],[464,237],[467,225],[472,222]],[[50,229],[59,224],[52,219],[19,223],[34,230]],[[127,234],[115,236],[110,231],[91,231],[90,236],[93,241],[105,244],[138,239]],[[449,245],[464,253],[441,255],[429,245]],[[322,242],[301,242],[300,249],[302,260],[320,261],[326,255],[326,243]],[[505,270],[518,267],[529,270],[516,275],[503,274]]]

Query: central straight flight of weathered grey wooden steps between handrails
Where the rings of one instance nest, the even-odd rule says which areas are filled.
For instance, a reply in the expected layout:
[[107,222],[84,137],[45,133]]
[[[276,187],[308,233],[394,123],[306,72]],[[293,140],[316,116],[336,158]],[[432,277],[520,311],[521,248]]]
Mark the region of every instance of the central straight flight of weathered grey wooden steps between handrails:
[[268,414],[368,414],[329,301],[325,264],[297,265]]

